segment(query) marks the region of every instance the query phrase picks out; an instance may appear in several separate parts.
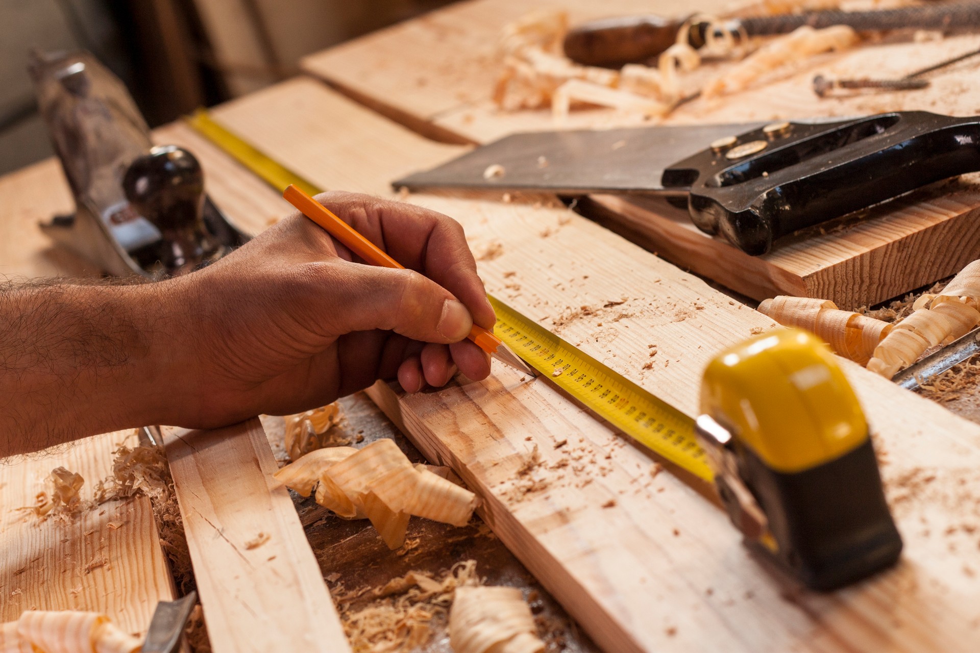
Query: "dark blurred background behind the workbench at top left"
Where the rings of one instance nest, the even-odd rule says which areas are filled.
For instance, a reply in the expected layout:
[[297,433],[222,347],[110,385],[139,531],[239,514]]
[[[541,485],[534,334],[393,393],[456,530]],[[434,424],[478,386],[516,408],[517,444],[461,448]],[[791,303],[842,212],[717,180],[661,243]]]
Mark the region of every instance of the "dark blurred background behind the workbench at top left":
[[0,174],[51,155],[27,52],[87,49],[150,126],[298,73],[308,53],[450,0],[0,0]]

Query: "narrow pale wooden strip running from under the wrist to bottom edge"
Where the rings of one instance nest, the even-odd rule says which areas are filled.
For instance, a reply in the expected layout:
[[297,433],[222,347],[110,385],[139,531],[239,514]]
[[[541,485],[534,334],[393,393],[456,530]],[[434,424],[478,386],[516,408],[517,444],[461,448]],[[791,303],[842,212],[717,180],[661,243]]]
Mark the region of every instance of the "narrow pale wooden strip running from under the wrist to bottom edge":
[[164,440],[215,652],[350,651],[259,420]]

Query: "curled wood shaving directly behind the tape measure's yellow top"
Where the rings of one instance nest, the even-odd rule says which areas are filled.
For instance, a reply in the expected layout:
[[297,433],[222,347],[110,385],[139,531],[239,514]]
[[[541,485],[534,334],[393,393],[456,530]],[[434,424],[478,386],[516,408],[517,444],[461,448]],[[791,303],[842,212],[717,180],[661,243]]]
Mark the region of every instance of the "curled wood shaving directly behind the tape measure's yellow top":
[[893,325],[867,315],[840,310],[827,300],[779,296],[764,300],[759,311],[783,326],[795,326],[816,334],[831,349],[864,365]]

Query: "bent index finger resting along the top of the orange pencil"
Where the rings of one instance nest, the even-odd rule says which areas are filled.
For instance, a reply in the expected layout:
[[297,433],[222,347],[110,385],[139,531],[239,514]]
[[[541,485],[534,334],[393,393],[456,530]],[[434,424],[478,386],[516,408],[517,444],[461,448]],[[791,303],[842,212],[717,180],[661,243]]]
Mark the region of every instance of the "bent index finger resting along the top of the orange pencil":
[[317,199],[402,265],[466,304],[476,324],[493,327],[493,308],[459,222],[434,210],[368,195],[334,192]]

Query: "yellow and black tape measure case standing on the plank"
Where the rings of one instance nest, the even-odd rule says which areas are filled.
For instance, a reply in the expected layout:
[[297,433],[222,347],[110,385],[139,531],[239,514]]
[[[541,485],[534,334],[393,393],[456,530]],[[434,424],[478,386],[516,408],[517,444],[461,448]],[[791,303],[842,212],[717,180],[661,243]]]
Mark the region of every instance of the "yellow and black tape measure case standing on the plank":
[[698,442],[750,548],[812,589],[902,552],[864,413],[834,354],[800,329],[760,335],[705,370]]

